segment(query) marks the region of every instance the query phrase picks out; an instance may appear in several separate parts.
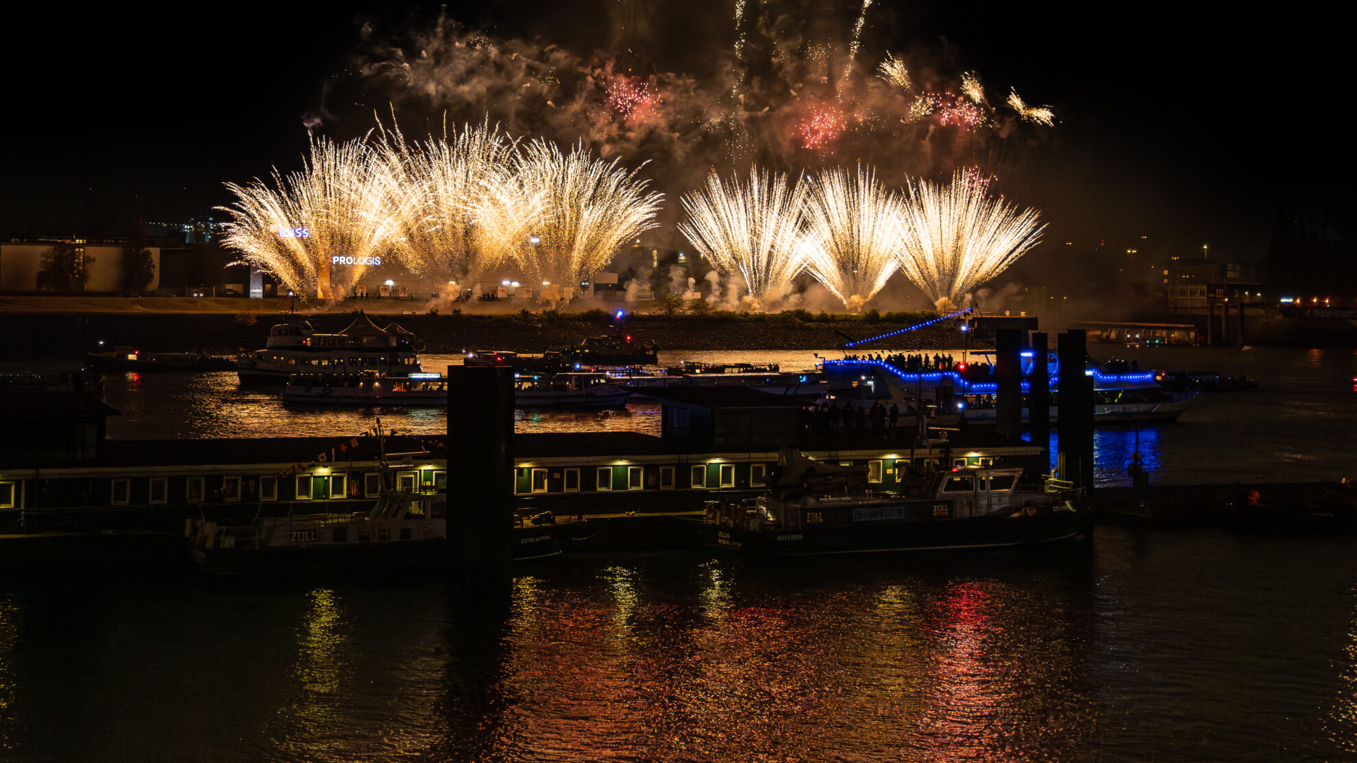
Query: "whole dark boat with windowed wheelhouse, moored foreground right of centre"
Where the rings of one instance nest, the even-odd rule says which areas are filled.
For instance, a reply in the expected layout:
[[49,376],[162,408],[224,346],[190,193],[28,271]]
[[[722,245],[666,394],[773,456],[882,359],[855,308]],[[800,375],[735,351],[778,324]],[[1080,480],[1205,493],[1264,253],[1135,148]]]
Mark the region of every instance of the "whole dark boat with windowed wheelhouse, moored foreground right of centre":
[[783,450],[773,488],[708,501],[704,542],[752,556],[987,549],[1079,538],[1092,526],[1068,482],[1019,485],[1022,469],[919,474],[902,493],[866,492],[867,469]]

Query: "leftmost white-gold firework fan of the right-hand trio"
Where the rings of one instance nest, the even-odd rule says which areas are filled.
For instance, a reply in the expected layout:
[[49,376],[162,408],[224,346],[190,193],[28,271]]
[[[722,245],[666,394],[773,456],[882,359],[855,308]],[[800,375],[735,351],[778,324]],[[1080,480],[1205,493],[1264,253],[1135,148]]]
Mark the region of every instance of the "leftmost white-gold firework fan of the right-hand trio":
[[683,197],[688,220],[678,232],[722,272],[738,272],[764,304],[801,271],[801,186],[786,175],[749,169],[749,182],[729,184],[712,172],[707,186]]

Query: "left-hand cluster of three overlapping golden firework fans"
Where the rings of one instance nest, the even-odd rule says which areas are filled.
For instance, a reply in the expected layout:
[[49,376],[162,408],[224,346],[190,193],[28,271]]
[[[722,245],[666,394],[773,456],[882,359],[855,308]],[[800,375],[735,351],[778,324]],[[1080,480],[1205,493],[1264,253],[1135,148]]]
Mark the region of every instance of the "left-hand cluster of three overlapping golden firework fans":
[[[224,243],[299,294],[343,298],[383,260],[442,283],[512,266],[570,301],[636,234],[658,194],[582,148],[518,148],[487,126],[410,145],[315,140],[307,167],[237,197]],[[389,264],[389,263],[388,263]],[[554,286],[554,289],[552,289]]]

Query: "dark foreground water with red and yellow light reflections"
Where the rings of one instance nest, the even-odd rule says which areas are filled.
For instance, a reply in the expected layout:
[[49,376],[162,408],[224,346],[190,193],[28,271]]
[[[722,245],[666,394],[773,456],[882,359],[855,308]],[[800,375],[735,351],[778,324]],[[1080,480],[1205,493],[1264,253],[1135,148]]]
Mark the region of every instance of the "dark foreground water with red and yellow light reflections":
[[1349,538],[8,580],[0,759],[1353,760]]

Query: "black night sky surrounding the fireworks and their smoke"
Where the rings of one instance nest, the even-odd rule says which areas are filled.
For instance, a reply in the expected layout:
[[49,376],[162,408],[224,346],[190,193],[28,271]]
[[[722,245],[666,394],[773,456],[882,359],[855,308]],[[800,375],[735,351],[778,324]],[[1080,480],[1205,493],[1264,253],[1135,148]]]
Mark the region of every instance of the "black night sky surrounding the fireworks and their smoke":
[[[711,65],[710,50],[733,39],[731,5],[661,4],[646,23],[645,56],[660,69]],[[494,3],[452,5],[449,15],[497,37],[540,35],[586,53],[619,43],[611,19],[620,7]],[[839,15],[851,20],[855,8]],[[370,107],[345,110],[326,95],[343,80],[362,24],[396,33],[434,12],[331,3],[210,15],[52,4],[28,14],[3,53],[9,140],[0,233],[69,234],[85,220],[95,233],[122,233],[136,207],[148,221],[182,221],[228,202],[224,180],[297,168],[303,121],[323,106],[326,134],[372,126]],[[1037,252],[1151,236],[1164,251],[1209,243],[1213,255],[1257,259],[1280,205],[1350,198],[1341,27],[1296,4],[1228,16],[878,0],[864,57],[909,46],[950,51],[993,89],[1014,84],[1029,103],[1054,108],[1060,123],[1006,187],[1050,222]]]

